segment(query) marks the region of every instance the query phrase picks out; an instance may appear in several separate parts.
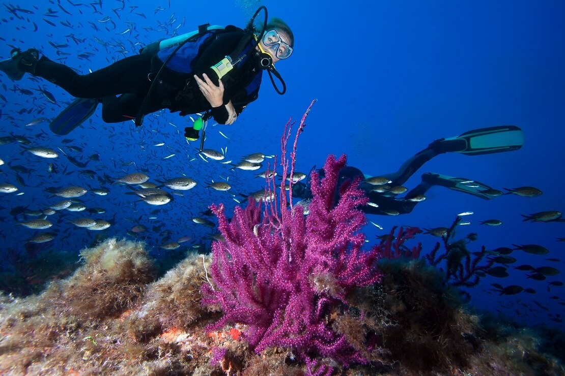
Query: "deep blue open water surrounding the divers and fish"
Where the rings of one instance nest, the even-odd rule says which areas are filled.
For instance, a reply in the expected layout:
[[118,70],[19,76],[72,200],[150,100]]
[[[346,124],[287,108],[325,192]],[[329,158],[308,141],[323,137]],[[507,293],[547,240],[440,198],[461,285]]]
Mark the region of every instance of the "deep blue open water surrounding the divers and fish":
[[[540,197],[513,195],[484,201],[480,198],[437,187],[428,191],[428,200],[416,206],[411,214],[402,216],[375,216],[368,219],[380,224],[384,231],[367,225],[365,231],[373,244],[374,236],[388,233],[394,225],[414,225],[422,228],[449,227],[455,215],[463,211],[475,214],[464,220],[471,225],[460,227],[463,237],[479,233],[472,244],[473,251],[481,245],[487,249],[512,244],[540,244],[548,249],[547,255],[531,255],[515,251],[515,265],[563,267],[563,261],[550,262],[546,258],[564,259],[564,223],[522,222],[520,214],[545,210],[565,210],[563,203],[563,167],[565,153],[565,25],[562,15],[565,5],[559,1],[527,2],[186,2],[171,0],[125,3],[103,1],[89,5],[68,0],[60,5],[72,14],[63,12],[56,2],[11,2],[14,7],[33,11],[18,12],[12,16],[5,7],[0,10],[0,56],[8,57],[11,47],[36,47],[51,59],[78,69],[82,73],[96,70],[124,56],[137,53],[140,46],[172,35],[172,29],[182,24],[179,33],[189,32],[199,24],[234,24],[244,26],[259,5],[266,5],[271,16],[279,16],[292,28],[295,36],[294,54],[287,61],[277,63],[288,91],[277,95],[267,75],[259,99],[249,105],[233,126],[210,127],[205,147],[220,150],[227,147],[226,160],[237,162],[252,152],[280,154],[280,137],[290,117],[299,120],[310,101],[314,105],[307,119],[305,132],[299,139],[297,169],[308,172],[313,165],[322,166],[330,154],[345,153],[350,165],[369,175],[392,172],[412,154],[425,148],[434,139],[456,136],[464,131],[496,126],[516,125],[524,130],[525,143],[519,151],[487,156],[443,154],[428,162],[405,185],[413,188],[423,172],[440,172],[451,176],[475,179],[494,188],[515,188],[532,185],[544,194]],[[124,6],[122,9],[122,5]],[[133,8],[137,6],[137,8]],[[164,8],[156,11],[157,7]],[[47,8],[57,11],[58,17],[43,14]],[[94,11],[94,8],[97,11]],[[114,8],[115,10],[112,10]],[[141,16],[144,14],[146,17]],[[119,17],[117,16],[119,15]],[[99,20],[110,16],[110,22]],[[43,19],[56,24],[51,26]],[[69,26],[60,24],[69,23]],[[169,21],[172,21],[169,24]],[[98,32],[89,24],[93,23]],[[37,25],[37,31],[33,31]],[[166,26],[159,26],[159,25]],[[167,25],[169,24],[169,25]],[[128,28],[131,31],[124,32]],[[84,42],[75,43],[70,35]],[[99,41],[105,43],[103,46]],[[59,54],[48,42],[60,47]],[[78,54],[93,52],[90,60]],[[112,222],[105,236],[128,237],[136,224],[148,231],[142,233],[155,256],[167,257],[166,250],[158,248],[171,231],[170,240],[190,236],[192,246],[211,231],[192,222],[211,203],[224,202],[228,213],[237,203],[226,192],[207,189],[206,183],[229,176],[233,186],[230,192],[249,193],[260,189],[264,180],[254,178],[262,170],[229,171],[227,165],[216,161],[205,162],[197,155],[196,144],[188,145],[182,136],[185,126],[192,125],[189,117],[179,117],[167,111],[147,116],[144,126],[136,129],[132,122],[107,125],[102,122],[100,109],[89,122],[68,137],[50,133],[48,123],[24,125],[39,117],[52,119],[72,97],[42,79],[26,76],[15,85],[0,74],[2,130],[0,136],[23,135],[34,146],[58,148],[82,162],[88,156],[100,154],[101,161],[90,161],[86,169],[120,178],[130,172],[147,169],[151,181],[176,176],[189,176],[198,185],[184,192],[184,197],[164,206],[150,206],[136,202],[126,195],[128,189],[120,185],[101,184],[79,174],[80,169],[68,162],[62,154],[56,160],[46,160],[23,152],[19,144],[0,145],[0,183],[11,183],[24,192],[2,194],[0,210],[3,251],[8,247],[23,252],[25,240],[33,230],[18,225],[8,214],[15,206],[42,210],[59,197],[51,197],[46,187],[79,185],[85,188],[106,187],[108,196],[87,193],[81,197],[87,207],[103,207],[105,214],[88,215],[63,211],[49,218],[54,223],[49,231],[58,231],[55,240],[44,245],[44,250],[55,249],[76,254],[92,244],[99,232],[76,228],[69,220],[91,216]],[[57,104],[47,102],[41,94],[25,95],[14,89],[37,89],[38,85],[55,95]],[[22,112],[23,110],[23,112]],[[211,124],[210,124],[211,125]],[[223,132],[229,139],[219,134]],[[62,143],[63,139],[73,139]],[[162,147],[153,145],[166,143]],[[73,152],[76,145],[82,152]],[[164,159],[170,154],[175,156]],[[273,160],[267,160],[271,162]],[[47,172],[54,162],[58,172]],[[128,162],[134,162],[128,163]],[[25,187],[16,183],[16,172],[11,165],[32,169],[21,174]],[[238,197],[241,198],[241,197]],[[151,212],[159,209],[158,213]],[[156,219],[149,219],[156,216]],[[20,219],[22,219],[20,217]],[[480,220],[499,219],[503,225],[487,227]],[[153,227],[158,227],[153,229]],[[421,235],[424,250],[429,250],[437,238]],[[563,276],[548,277],[546,281],[532,281],[526,273],[509,268],[510,277],[485,277],[471,289],[473,303],[485,309],[498,310],[528,324],[546,323],[563,329],[563,324],[551,320],[563,315],[563,289],[551,287],[549,281],[562,281]],[[490,293],[492,283],[503,286],[518,284],[533,287],[534,295],[521,293],[499,297]],[[558,299],[550,297],[557,296]],[[547,311],[533,301],[547,307]]]

